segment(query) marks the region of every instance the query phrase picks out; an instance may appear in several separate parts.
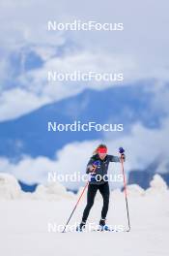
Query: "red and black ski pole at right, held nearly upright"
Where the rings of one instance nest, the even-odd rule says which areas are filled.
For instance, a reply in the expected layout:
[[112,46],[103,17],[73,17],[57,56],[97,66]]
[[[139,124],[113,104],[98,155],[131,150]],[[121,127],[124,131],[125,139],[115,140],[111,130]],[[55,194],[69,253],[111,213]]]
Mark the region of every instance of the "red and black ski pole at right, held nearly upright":
[[124,177],[124,191],[125,191],[125,199],[126,199],[126,206],[127,206],[127,225],[128,225],[127,232],[129,232],[130,231],[130,221],[129,221],[129,210],[128,210],[128,204],[127,204],[127,181],[126,181],[126,176],[125,176],[124,158],[123,158],[125,149],[123,147],[120,147],[119,152],[121,153],[121,164],[122,164],[122,172],[123,172],[123,177]]

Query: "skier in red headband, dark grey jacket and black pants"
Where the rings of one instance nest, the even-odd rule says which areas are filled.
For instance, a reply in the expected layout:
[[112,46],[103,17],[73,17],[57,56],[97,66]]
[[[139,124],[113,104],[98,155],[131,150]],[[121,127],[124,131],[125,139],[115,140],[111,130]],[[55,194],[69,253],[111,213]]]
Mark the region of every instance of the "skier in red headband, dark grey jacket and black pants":
[[[125,154],[123,153],[121,156],[125,161]],[[110,162],[121,162],[121,157],[107,154],[107,146],[105,144],[99,144],[87,165],[86,173],[91,174],[87,192],[87,206],[83,211],[82,220],[77,227],[77,231],[83,231],[85,228],[89,212],[94,205],[95,196],[98,190],[103,199],[99,227],[101,230],[104,230],[104,228],[107,229],[105,219],[108,211],[110,194],[107,171]]]

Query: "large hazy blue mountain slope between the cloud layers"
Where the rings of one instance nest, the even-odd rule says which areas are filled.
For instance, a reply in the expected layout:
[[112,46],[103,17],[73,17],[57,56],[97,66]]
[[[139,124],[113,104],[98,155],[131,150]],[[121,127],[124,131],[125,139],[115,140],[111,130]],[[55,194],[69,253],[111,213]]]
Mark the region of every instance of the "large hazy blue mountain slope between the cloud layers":
[[[124,134],[131,126],[142,123],[145,127],[156,128],[164,112],[154,111],[154,91],[149,90],[153,81],[140,81],[131,86],[113,87],[105,90],[87,89],[77,96],[46,105],[37,111],[14,120],[0,123],[0,155],[10,159],[27,154],[32,157],[44,155],[52,158],[55,152],[72,142],[98,140],[101,132],[47,132],[47,122],[122,123]],[[119,137],[113,133],[112,138]]]

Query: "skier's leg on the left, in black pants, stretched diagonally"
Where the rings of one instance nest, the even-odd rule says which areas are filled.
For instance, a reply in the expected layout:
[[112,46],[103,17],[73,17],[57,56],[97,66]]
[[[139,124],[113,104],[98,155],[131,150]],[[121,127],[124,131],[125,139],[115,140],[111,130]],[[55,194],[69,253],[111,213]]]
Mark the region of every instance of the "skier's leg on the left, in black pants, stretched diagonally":
[[89,216],[89,212],[94,205],[94,200],[95,200],[95,196],[97,194],[98,187],[99,187],[99,185],[95,185],[95,184],[89,184],[89,186],[88,186],[87,206],[83,211],[83,217],[82,217],[83,223],[86,222],[86,220]]

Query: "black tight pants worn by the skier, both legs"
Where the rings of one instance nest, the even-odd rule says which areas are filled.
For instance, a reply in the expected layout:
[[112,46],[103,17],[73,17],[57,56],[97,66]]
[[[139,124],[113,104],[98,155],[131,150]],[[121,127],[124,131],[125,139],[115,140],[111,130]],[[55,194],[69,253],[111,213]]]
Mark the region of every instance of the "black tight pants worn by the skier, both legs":
[[87,193],[87,206],[83,211],[83,217],[82,221],[86,222],[90,209],[94,205],[95,196],[97,194],[97,191],[99,190],[102,199],[103,199],[103,207],[101,210],[101,218],[105,219],[108,211],[108,205],[109,205],[109,185],[108,182],[105,182],[103,184],[97,185],[97,184],[89,184],[88,186],[88,193]]

